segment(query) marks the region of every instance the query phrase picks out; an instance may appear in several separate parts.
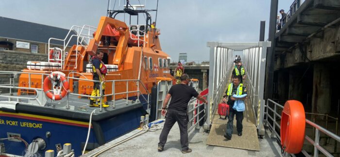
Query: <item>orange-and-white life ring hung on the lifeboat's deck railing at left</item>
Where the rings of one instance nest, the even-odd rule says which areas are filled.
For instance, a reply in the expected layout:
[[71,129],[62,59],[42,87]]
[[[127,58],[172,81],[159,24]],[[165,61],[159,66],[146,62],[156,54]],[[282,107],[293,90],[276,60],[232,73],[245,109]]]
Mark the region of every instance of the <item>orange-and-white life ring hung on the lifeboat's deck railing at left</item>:
[[[53,86],[53,94],[50,92],[49,82],[51,81]],[[62,89],[62,87],[64,87]],[[47,97],[52,100],[61,100],[68,93],[69,84],[65,78],[65,74],[62,72],[52,72],[48,77],[44,79],[43,90]],[[60,91],[63,90],[61,93]]]

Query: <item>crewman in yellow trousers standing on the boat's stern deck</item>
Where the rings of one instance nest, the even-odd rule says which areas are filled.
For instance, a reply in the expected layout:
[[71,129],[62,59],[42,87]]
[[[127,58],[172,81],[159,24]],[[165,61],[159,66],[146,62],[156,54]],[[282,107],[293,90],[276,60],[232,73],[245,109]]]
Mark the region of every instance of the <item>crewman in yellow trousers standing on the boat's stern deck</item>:
[[[107,69],[105,64],[102,62],[102,57],[104,56],[104,52],[97,51],[96,55],[92,57],[92,70],[93,70],[93,80],[105,81],[105,75],[107,73]],[[91,96],[100,96],[100,82],[93,82],[93,91]],[[104,95],[105,91],[105,82],[102,83],[102,95]],[[105,104],[103,97],[102,99],[102,107],[107,108],[109,105]],[[99,98],[90,98],[90,107],[99,107],[101,102]]]

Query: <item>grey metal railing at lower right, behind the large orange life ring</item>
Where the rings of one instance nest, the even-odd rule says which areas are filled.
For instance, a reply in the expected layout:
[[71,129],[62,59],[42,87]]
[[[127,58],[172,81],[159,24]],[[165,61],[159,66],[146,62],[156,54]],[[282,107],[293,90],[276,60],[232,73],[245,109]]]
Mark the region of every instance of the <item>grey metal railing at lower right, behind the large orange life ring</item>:
[[[281,119],[281,112],[282,110],[278,109],[283,109],[283,106],[274,102],[271,99],[267,99],[267,103],[265,105],[266,110],[266,119],[264,120],[265,126],[268,126],[269,129],[272,131],[271,138],[277,138],[277,140],[281,141],[281,136],[280,134],[276,131],[276,129],[281,129],[280,124],[276,122],[277,119]],[[269,112],[270,110],[270,112]],[[269,122],[268,118],[272,121]],[[335,141],[335,143],[340,142],[340,137],[337,134],[332,133],[331,131],[327,130],[326,128],[323,128],[322,126],[319,126],[309,120],[306,119],[306,124],[312,126],[315,129],[315,133],[313,134],[313,139],[308,137],[308,135],[305,136],[305,140],[308,141],[310,144],[314,146],[314,157],[319,156],[319,151],[323,153],[323,155],[327,157],[333,157],[333,155],[327,151],[325,148],[323,148],[320,145],[320,133],[324,133],[328,135],[331,139]],[[311,157],[306,150],[302,150],[301,153],[303,153],[306,157]],[[290,156],[295,157],[294,154],[289,154]]]

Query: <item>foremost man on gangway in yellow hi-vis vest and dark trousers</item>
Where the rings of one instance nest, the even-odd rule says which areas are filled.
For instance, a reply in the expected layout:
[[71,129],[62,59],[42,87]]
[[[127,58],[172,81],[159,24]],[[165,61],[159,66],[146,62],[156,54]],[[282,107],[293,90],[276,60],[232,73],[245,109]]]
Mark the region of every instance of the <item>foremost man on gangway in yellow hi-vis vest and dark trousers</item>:
[[[243,110],[245,110],[244,108],[244,100],[247,98],[246,94],[247,94],[247,90],[246,87],[243,86],[243,83],[240,83],[240,76],[234,76],[233,79],[233,83],[230,83],[228,85],[228,89],[227,91],[225,91],[225,95],[223,96],[223,101],[227,102],[227,104],[229,105],[229,115],[228,115],[228,123],[227,123],[227,130],[226,133],[224,134],[224,137],[227,140],[231,140],[232,134],[233,134],[233,127],[234,127],[234,116],[236,114],[236,127],[237,127],[237,131],[238,131],[238,136],[242,136],[242,120],[243,120]],[[236,95],[235,95],[236,94]],[[239,98],[233,97],[234,96],[238,96]],[[242,95],[244,95],[244,97],[240,98]],[[228,101],[227,101],[228,98]],[[242,104],[243,110],[239,110],[239,108],[234,108],[235,105],[235,100],[238,101],[238,104]]]

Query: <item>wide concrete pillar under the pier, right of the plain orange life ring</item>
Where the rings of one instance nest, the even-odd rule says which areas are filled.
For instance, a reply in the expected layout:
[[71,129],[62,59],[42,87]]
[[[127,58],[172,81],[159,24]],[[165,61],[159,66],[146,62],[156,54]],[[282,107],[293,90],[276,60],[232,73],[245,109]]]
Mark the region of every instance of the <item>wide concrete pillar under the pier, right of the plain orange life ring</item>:
[[315,63],[313,72],[312,111],[325,114],[331,110],[331,87],[329,66]]

